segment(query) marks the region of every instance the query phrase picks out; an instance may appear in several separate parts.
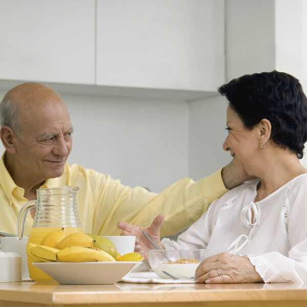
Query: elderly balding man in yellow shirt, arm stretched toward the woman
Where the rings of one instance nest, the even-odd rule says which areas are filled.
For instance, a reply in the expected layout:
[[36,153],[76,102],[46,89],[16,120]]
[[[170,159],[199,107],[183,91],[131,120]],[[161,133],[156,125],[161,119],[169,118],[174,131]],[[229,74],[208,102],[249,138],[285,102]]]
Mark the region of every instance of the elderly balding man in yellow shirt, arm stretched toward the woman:
[[[73,126],[67,107],[56,92],[40,83],[23,83],[10,90],[0,104],[0,114],[6,149],[0,159],[1,232],[16,232],[18,212],[36,199],[36,189],[70,185],[80,187],[78,212],[86,233],[117,235],[118,221],[148,226],[163,213],[161,234],[171,235],[196,221],[213,200],[244,179],[230,164],[208,178],[182,179],[156,194],[69,165]],[[26,218],[25,235],[34,213]]]

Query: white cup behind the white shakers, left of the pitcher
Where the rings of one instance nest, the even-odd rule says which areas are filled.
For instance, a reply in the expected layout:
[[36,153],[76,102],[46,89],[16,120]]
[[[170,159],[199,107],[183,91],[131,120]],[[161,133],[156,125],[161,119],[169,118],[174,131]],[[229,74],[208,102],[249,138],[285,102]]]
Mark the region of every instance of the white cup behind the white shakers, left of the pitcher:
[[21,240],[16,237],[0,238],[1,250],[3,252],[15,252],[21,256],[21,276],[23,279],[30,279],[26,252],[27,243],[28,237],[24,237]]

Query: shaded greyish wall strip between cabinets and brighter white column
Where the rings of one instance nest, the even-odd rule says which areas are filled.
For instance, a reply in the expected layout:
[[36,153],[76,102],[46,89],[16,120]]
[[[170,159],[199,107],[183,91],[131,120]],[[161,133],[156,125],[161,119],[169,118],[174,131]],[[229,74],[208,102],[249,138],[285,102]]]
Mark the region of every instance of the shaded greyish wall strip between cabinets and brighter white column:
[[274,0],[226,0],[227,81],[275,69],[274,12]]

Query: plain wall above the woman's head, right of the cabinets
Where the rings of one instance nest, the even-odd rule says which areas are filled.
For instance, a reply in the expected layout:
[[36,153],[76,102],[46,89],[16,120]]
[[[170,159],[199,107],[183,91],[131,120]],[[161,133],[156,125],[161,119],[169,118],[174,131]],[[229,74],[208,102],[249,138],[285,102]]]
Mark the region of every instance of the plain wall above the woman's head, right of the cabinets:
[[227,81],[276,69],[298,78],[307,94],[306,14],[307,0],[226,0]]

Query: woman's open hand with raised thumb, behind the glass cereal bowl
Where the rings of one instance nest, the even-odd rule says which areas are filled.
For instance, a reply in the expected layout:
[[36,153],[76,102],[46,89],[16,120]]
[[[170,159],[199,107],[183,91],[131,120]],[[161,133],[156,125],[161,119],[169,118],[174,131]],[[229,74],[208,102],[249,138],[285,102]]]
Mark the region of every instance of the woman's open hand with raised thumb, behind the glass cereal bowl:
[[148,228],[142,228],[139,226],[131,225],[126,222],[119,222],[117,224],[117,228],[121,229],[121,235],[135,235],[136,238],[136,246],[135,252],[142,254],[145,257],[145,261],[148,262],[147,258],[147,250],[156,249],[143,234],[143,230],[145,230],[152,240],[161,248],[165,249],[160,240],[160,228],[164,220],[164,215],[159,214],[151,223]]

